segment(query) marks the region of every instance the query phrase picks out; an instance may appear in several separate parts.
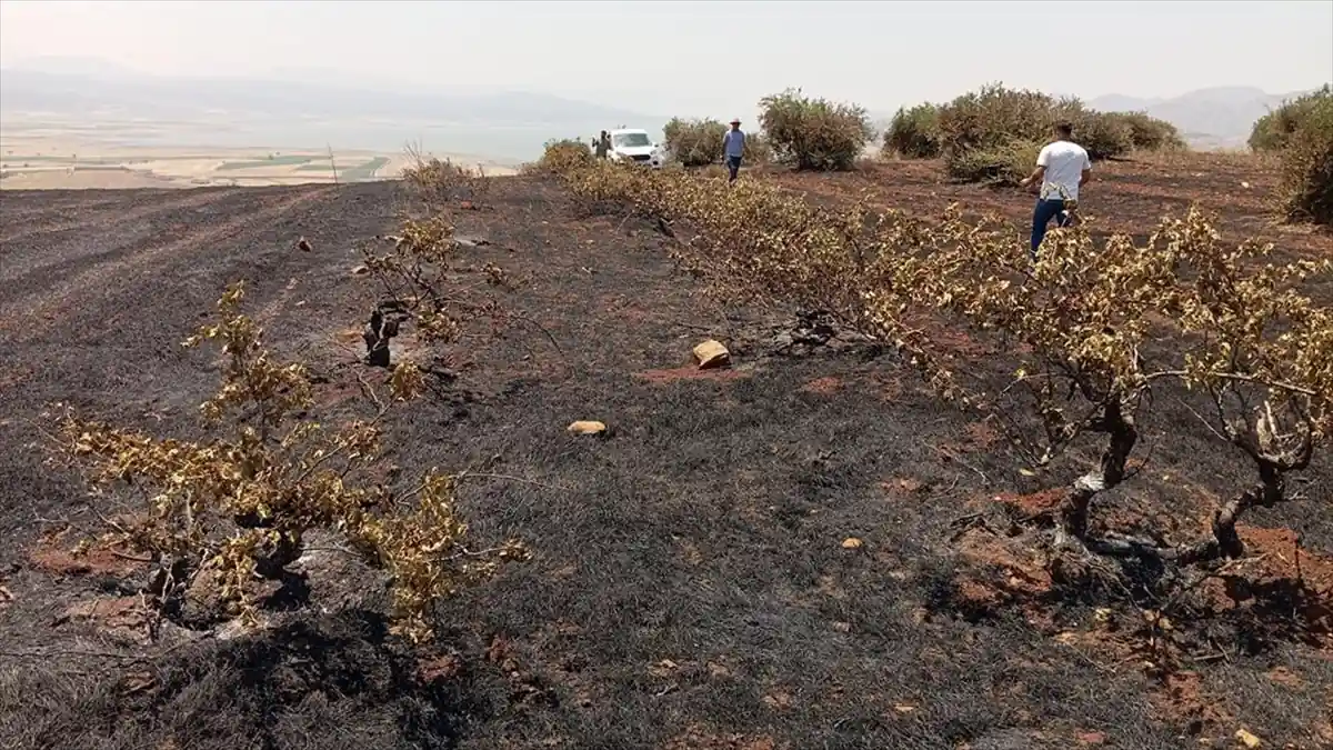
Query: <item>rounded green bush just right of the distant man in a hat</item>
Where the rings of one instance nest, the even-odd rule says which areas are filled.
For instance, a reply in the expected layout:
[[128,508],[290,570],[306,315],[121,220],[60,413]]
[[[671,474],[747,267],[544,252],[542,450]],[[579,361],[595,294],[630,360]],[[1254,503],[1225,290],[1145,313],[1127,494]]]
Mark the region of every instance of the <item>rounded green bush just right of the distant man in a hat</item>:
[[773,156],[798,169],[850,169],[874,136],[865,108],[802,96],[798,88],[765,96],[760,109]]

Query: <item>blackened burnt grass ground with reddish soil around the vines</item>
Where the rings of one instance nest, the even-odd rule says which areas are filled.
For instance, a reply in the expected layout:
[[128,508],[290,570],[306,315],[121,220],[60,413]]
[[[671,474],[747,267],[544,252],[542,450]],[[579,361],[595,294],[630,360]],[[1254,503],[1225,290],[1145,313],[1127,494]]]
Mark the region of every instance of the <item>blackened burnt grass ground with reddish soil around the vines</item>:
[[[836,198],[869,177],[776,179]],[[942,208],[958,190],[922,187],[920,203]],[[447,207],[473,240],[463,262],[524,278],[503,296],[523,319],[448,352],[461,375],[395,416],[389,459],[408,475],[475,467],[460,487],[475,544],[513,535],[533,558],[441,602],[437,641],[411,650],[388,633],[383,579],[328,550],[299,565],[304,599],[275,607],[269,629],[163,627],[149,643],[132,560],[52,563],[115,500],[47,463],[40,414],[61,402],[197,436],[216,372],[179,342],[233,279],[271,344],[319,375],[313,416],[361,410],[357,375],[383,375],[355,362],[377,294],[351,272],[356,247],[420,206],[397,183],[5,194],[0,746],[1137,750],[1230,747],[1238,729],[1274,747],[1333,741],[1329,590],[1293,582],[1278,558],[1294,543],[1262,550],[1278,574],[1248,597],[1177,614],[1154,651],[1141,591],[1050,585],[1021,539],[956,523],[1061,486],[1096,444],[1028,476],[892,351],[785,347],[796,311],[712,302],[649,224],[588,215],[541,179],[495,180],[475,203]],[[693,371],[705,338],[732,348],[730,370]],[[1006,366],[958,343],[977,368]],[[576,419],[609,432],[567,434]],[[1146,470],[1097,500],[1106,523],[1190,538],[1246,479],[1192,419],[1154,404]],[[1246,520],[1298,532],[1317,581],[1333,554],[1316,510],[1328,462],[1309,476],[1310,499]],[[124,605],[79,615],[99,601]]]

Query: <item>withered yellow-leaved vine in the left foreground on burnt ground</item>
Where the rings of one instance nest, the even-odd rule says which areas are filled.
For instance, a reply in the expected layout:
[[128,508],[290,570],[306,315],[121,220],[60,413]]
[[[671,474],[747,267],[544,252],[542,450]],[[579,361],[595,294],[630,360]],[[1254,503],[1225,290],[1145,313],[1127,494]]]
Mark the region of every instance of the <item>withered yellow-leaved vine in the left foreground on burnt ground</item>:
[[135,520],[108,534],[151,558],[157,573],[145,594],[164,610],[207,573],[220,603],[245,622],[257,618],[257,582],[280,578],[311,531],[343,534],[389,574],[401,633],[429,637],[432,603],[523,556],[521,544],[467,548],[449,475],[432,470],[407,488],[383,484],[381,423],[421,391],[415,366],[399,364],[384,394],[365,386],[376,404],[371,419],[333,428],[311,422],[305,368],[275,359],[263,330],[241,312],[243,296],[240,284],[228,287],[217,320],[185,342],[215,343],[223,354],[221,386],[200,410],[207,438],[61,415],[59,438],[91,467],[95,486],[140,503],[129,514]]

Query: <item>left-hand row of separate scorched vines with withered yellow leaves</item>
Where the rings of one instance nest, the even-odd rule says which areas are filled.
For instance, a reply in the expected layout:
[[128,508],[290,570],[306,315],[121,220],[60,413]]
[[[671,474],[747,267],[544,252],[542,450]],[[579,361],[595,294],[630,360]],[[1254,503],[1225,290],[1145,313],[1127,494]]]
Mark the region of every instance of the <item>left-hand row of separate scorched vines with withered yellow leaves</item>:
[[[409,177],[419,188],[485,184],[440,161],[423,163]],[[504,308],[484,290],[509,279],[487,266],[475,284],[451,282],[460,247],[449,222],[433,216],[407,220],[400,236],[364,248],[368,291],[388,295],[365,327],[371,363],[389,366],[387,347],[400,330],[424,346],[448,344],[473,322],[492,328],[503,322]],[[291,575],[312,535],[324,535],[385,574],[400,633],[429,638],[437,601],[527,555],[513,539],[467,546],[456,508],[465,474],[385,474],[387,420],[439,387],[441,374],[408,360],[349,372],[361,390],[355,407],[361,418],[321,424],[311,414],[319,386],[309,364],[280,359],[243,311],[244,298],[244,284],[229,286],[216,318],[184,342],[213,344],[221,355],[221,382],[200,406],[197,438],[160,436],[71,410],[56,415],[53,436],[91,471],[96,491],[124,511],[108,512],[103,538],[87,543],[149,563],[145,601],[163,618],[205,630],[236,619],[259,623],[261,594]]]

